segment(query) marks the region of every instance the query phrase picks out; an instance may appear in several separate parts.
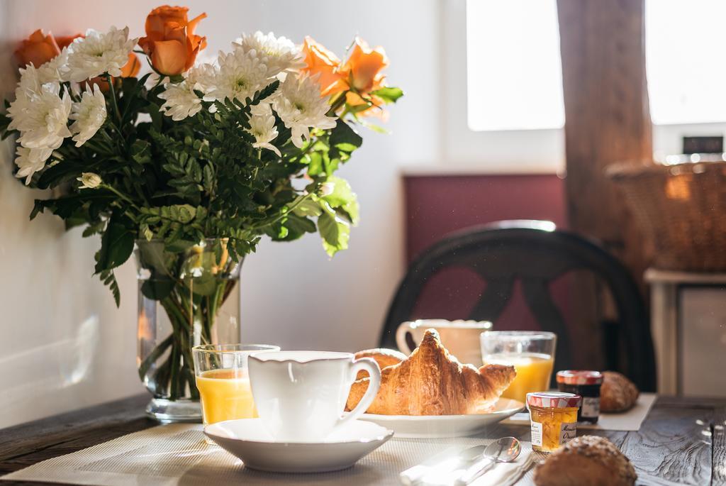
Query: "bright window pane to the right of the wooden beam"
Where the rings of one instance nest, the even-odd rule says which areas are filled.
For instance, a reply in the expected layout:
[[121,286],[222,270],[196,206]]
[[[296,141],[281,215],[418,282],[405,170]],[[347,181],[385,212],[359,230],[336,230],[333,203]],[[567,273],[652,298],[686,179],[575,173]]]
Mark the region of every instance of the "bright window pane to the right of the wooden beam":
[[726,121],[725,18],[723,0],[645,0],[653,123]]

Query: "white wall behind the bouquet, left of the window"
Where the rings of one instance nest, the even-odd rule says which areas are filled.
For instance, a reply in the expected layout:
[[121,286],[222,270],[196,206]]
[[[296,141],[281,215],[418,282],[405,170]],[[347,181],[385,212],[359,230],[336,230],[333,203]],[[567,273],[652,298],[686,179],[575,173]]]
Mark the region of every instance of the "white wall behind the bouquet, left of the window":
[[[351,248],[327,258],[308,235],[264,243],[242,269],[242,337],[287,349],[355,350],[376,344],[404,267],[399,169],[439,158],[439,25],[436,0],[199,1],[198,33],[208,56],[243,31],[274,31],[296,41],[314,36],[340,54],[359,33],[382,44],[388,76],[407,96],[391,109],[392,135],[364,134],[364,147],[340,174],[351,181],[362,222]],[[157,1],[12,0],[0,3],[0,88],[12,92],[9,53],[36,28],[67,35],[129,25],[143,33]],[[122,304],[91,278],[97,240],[64,232],[44,215],[28,222],[33,198],[12,178],[9,144],[0,147],[0,427],[142,391],[135,371],[134,267],[118,271]]]

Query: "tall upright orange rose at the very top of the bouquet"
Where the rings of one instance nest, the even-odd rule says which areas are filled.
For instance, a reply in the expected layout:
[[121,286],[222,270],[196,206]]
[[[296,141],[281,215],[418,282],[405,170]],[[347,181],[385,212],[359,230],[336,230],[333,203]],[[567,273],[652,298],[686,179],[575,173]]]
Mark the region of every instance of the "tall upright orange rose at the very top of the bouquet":
[[157,7],[146,17],[146,37],[139,46],[150,57],[154,69],[175,76],[194,65],[197,54],[207,46],[205,37],[195,36],[197,23],[206,14],[187,20],[187,7]]

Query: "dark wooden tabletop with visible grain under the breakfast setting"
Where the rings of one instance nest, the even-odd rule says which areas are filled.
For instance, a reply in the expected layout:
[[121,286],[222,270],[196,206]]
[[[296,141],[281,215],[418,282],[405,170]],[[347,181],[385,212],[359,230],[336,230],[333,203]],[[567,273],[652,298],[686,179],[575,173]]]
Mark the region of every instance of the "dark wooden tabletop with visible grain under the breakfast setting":
[[[155,426],[144,417],[148,400],[139,395],[0,430],[0,474]],[[659,397],[639,432],[588,432],[621,448],[638,485],[726,485],[726,400]],[[499,424],[487,435],[529,440],[529,427]],[[13,484],[31,483],[0,482]]]

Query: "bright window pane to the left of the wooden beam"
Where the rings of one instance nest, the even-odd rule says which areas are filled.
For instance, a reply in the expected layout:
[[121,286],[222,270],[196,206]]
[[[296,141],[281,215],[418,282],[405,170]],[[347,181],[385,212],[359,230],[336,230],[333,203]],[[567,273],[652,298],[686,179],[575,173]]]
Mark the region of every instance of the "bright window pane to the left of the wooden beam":
[[469,128],[561,128],[556,1],[468,0],[466,9]]

